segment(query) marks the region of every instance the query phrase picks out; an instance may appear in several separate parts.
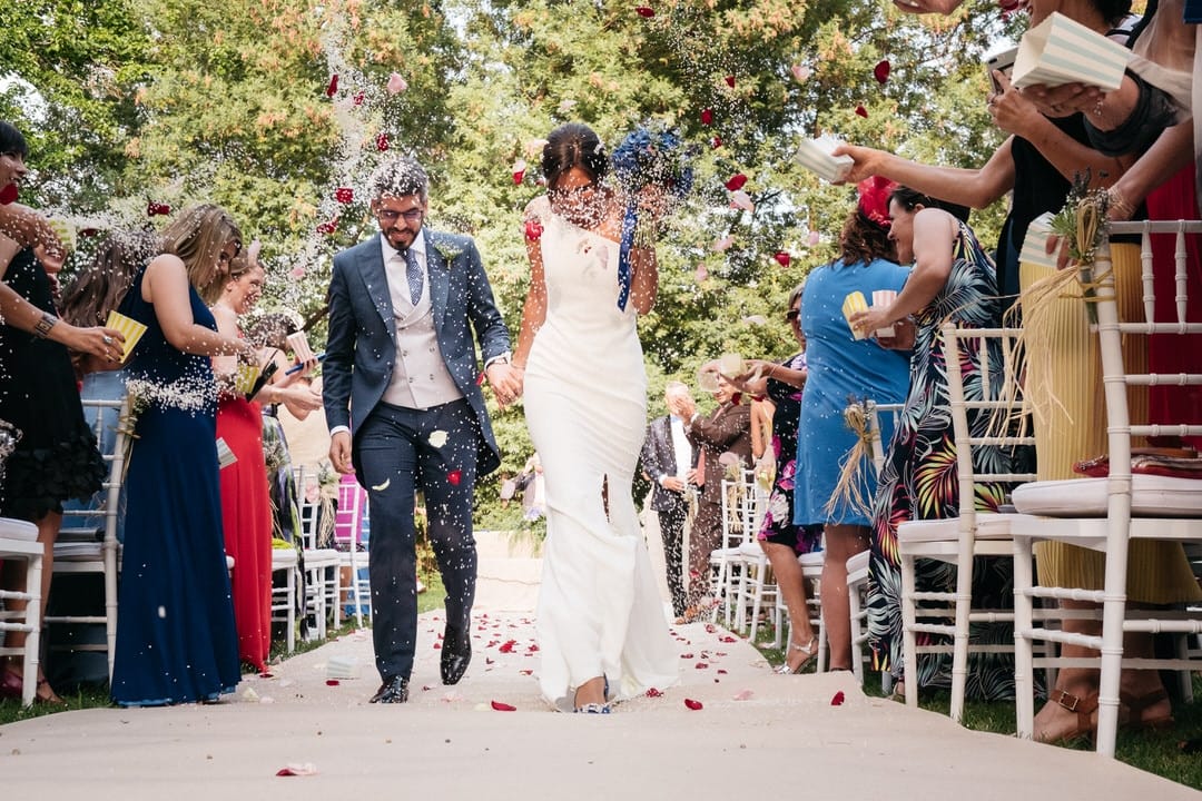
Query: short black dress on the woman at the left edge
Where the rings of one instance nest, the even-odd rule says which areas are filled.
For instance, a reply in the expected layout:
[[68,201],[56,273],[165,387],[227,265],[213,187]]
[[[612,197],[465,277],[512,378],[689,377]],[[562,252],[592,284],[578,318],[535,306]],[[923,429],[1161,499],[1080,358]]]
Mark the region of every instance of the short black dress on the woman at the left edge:
[[[50,279],[31,249],[20,251],[4,282],[54,313]],[[84,422],[66,347],[0,324],[0,419],[22,432],[0,485],[0,515],[36,521],[89,498],[105,480],[105,461]]]

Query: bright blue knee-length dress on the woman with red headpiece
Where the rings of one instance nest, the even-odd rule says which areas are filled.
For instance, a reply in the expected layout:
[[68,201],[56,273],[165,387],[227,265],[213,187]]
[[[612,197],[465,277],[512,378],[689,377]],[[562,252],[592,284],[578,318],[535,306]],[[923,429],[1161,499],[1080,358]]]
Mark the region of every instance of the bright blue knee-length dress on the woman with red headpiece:
[[[909,354],[882,348],[873,339],[855,340],[843,301],[852,292],[869,301],[876,289],[898,292],[910,275],[909,268],[876,259],[869,264],[825,264],[805,280],[802,295],[802,331],[805,334],[805,361],[809,377],[802,393],[802,418],[797,435],[797,474],[793,491],[793,522],[870,525],[865,510],[839,498],[827,513],[839,473],[856,435],[844,423],[849,399],[870,399],[877,404],[900,404],[910,387]],[[892,419],[881,417],[881,437],[888,442]],[[859,467],[861,497],[870,504],[876,480],[865,459]]]

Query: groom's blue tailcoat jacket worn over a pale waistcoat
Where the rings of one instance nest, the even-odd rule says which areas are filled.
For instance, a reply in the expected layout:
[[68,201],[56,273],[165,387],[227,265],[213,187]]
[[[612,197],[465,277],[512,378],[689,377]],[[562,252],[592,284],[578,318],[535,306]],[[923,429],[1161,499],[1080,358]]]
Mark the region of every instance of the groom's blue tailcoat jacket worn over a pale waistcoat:
[[[472,346],[472,331],[484,361],[510,351],[510,331],[493,300],[493,288],[471,237],[426,228],[422,235],[439,349],[480,423],[476,473],[486,476],[501,460],[484,395],[476,383],[481,363]],[[395,343],[397,319],[376,234],[334,256],[329,281],[322,402],[326,424],[331,429],[349,426],[352,442],[388,387],[397,364]]]

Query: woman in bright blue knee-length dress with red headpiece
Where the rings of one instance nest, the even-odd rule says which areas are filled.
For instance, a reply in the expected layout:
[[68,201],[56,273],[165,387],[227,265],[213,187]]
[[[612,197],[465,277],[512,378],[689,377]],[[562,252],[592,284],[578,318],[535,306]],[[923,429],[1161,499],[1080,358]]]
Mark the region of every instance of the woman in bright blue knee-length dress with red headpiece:
[[[799,414],[793,521],[826,531],[819,586],[831,670],[851,669],[847,560],[868,549],[869,506],[876,489],[870,453],[861,453],[851,472],[843,473],[859,440],[843,413],[849,397],[900,404],[910,385],[909,353],[882,348],[871,337],[853,339],[843,316],[844,299],[852,292],[867,300],[876,291],[898,292],[910,274],[895,263],[889,241],[891,190],[892,184],[875,179],[861,185],[839,237],[839,256],[809,274],[796,321],[808,346],[809,379]],[[882,417],[880,424],[882,441],[888,442],[892,417]],[[845,489],[841,474],[851,479]]]

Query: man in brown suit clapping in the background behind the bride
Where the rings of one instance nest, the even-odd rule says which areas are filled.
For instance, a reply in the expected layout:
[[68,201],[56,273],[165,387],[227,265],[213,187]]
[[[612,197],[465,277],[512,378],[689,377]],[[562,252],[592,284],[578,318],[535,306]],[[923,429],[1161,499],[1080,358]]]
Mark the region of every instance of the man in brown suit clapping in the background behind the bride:
[[[704,488],[697,502],[697,516],[689,531],[689,606],[678,623],[691,623],[708,612],[712,602],[709,556],[722,546],[722,478],[727,465],[743,471],[751,467],[751,410],[730,378],[714,370],[718,405],[702,417],[692,397],[677,397],[668,407],[686,420],[685,432],[702,452]],[[727,455],[728,454],[728,455]]]

